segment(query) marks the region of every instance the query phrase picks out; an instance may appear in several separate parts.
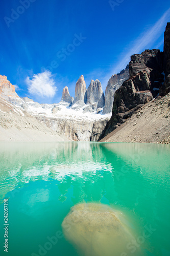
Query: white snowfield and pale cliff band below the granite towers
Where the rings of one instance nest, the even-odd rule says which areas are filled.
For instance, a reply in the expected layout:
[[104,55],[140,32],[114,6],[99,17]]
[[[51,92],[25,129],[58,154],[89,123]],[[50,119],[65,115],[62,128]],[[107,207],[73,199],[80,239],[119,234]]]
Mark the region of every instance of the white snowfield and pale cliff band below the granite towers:
[[97,141],[111,117],[111,114],[103,115],[103,109],[98,114],[96,111],[87,111],[90,106],[87,104],[74,104],[73,108],[64,101],[57,104],[39,104],[28,97],[10,97],[8,100],[18,110],[29,113],[60,136],[64,135],[74,141]]

